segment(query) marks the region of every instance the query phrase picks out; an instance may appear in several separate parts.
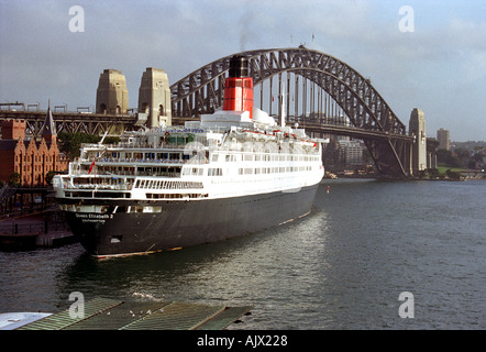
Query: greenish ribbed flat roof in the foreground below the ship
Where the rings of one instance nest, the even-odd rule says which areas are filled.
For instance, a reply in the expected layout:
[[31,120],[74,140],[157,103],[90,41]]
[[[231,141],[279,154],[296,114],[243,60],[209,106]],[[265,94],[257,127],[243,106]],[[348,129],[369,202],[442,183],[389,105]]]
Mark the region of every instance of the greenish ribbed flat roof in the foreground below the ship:
[[187,301],[123,301],[93,298],[84,314],[69,309],[27,322],[15,330],[223,330],[250,315],[252,307]]

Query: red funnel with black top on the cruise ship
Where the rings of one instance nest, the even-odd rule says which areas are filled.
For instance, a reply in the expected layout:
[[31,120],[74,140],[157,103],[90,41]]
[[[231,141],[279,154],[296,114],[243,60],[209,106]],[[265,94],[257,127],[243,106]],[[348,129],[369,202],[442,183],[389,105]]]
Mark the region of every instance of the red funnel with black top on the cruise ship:
[[230,59],[229,77],[224,84],[224,111],[253,111],[253,78],[248,77],[248,59],[233,56]]

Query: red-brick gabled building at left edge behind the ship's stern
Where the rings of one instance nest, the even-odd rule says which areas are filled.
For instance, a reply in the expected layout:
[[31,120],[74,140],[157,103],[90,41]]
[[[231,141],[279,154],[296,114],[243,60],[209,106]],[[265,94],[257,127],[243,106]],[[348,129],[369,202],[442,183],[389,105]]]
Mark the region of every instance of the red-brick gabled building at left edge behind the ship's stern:
[[51,109],[40,139],[25,136],[24,120],[2,121],[0,140],[0,179],[8,183],[14,173],[20,175],[21,187],[45,186],[48,172],[63,172],[67,158],[59,153]]

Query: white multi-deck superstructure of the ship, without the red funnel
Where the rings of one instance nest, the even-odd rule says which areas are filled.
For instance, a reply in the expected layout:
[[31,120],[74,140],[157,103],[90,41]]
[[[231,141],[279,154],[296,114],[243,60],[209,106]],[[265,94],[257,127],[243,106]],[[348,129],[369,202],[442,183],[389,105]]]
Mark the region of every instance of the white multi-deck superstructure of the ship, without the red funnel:
[[298,191],[323,176],[321,141],[265,112],[227,111],[185,127],[128,132],[117,145],[85,144],[57,198],[201,200]]

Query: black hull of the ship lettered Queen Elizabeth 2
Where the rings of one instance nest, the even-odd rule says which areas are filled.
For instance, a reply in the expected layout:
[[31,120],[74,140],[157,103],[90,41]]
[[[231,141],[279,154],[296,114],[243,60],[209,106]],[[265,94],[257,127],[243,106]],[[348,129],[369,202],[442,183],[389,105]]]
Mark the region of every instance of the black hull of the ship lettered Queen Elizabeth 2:
[[[305,216],[317,189],[314,185],[296,193],[190,201],[118,200],[119,206],[157,206],[162,211],[65,215],[75,237],[92,255],[147,253],[222,241]],[[84,199],[82,204],[107,200]]]

